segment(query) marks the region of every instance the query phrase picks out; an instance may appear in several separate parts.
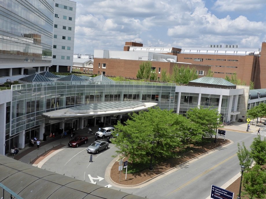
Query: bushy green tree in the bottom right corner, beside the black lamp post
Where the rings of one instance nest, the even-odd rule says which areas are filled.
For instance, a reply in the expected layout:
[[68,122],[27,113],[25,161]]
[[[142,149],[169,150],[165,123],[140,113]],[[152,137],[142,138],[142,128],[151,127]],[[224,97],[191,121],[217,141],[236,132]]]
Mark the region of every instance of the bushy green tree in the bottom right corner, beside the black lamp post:
[[243,186],[250,198],[265,198],[266,194],[266,171],[260,165],[254,165],[248,172],[243,174]]

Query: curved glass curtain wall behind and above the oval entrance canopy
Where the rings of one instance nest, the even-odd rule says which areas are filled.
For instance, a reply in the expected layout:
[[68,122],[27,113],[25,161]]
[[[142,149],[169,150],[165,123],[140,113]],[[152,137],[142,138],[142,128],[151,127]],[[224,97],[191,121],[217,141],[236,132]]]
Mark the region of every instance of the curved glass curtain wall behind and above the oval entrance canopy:
[[174,109],[176,112],[175,86],[171,83],[117,81],[38,82],[13,85],[10,135],[36,129],[44,123],[41,115],[44,112],[98,102],[155,102],[162,109]]

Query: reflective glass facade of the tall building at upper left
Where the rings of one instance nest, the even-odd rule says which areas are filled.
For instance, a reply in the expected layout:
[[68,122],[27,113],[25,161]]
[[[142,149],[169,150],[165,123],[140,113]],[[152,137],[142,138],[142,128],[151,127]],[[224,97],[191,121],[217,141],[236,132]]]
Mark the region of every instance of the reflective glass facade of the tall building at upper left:
[[[0,0],[0,61],[51,63],[53,10],[54,0]],[[0,65],[0,76],[8,76]]]

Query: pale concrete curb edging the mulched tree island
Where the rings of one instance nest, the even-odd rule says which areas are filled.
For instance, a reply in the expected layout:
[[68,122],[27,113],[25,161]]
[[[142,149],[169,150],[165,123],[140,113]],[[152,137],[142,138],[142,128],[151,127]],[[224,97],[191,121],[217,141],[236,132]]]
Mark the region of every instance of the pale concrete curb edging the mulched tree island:
[[[223,144],[223,145],[221,145],[221,146],[219,146],[219,147],[217,147],[217,148],[215,148],[215,149],[212,149],[212,150],[210,150],[210,151],[208,151],[208,152],[206,152],[206,153],[203,153],[203,154],[201,154],[201,155],[198,155],[197,157],[193,157],[192,159],[190,159],[190,160],[188,160],[188,161],[186,161],[186,162],[183,162],[182,164],[179,164],[179,165],[177,165],[177,166],[175,166],[175,167],[173,167],[173,168],[171,168],[171,169],[169,169],[169,170],[167,170],[167,171],[164,171],[164,172],[162,172],[162,173],[160,173],[160,174],[158,174],[158,175],[152,177],[151,179],[148,179],[148,180],[146,180],[146,181],[144,181],[144,182],[141,182],[141,183],[139,183],[139,184],[136,184],[136,185],[122,185],[122,184],[119,184],[119,183],[114,182],[114,181],[110,178],[111,168],[112,168],[112,166],[114,165],[114,163],[116,162],[117,159],[113,159],[112,162],[110,162],[110,164],[108,164],[104,176],[105,176],[106,181],[107,181],[107,179],[108,179],[108,183],[109,183],[109,184],[112,183],[113,185],[115,185],[115,187],[119,187],[119,188],[132,188],[132,189],[134,189],[134,188],[141,188],[141,187],[143,187],[143,186],[141,186],[141,185],[143,185],[143,184],[145,184],[145,183],[148,183],[148,182],[150,182],[150,181],[152,181],[152,180],[156,181],[156,180],[159,179],[160,176],[163,177],[163,176],[168,175],[167,173],[170,174],[171,171],[173,171],[173,170],[178,170],[180,166],[183,166],[183,165],[185,165],[185,164],[187,164],[187,163],[189,163],[189,162],[191,162],[191,161],[195,161],[195,159],[198,159],[199,157],[204,157],[204,156],[208,155],[208,153],[213,153],[213,152],[215,152],[216,150],[218,150],[218,149],[221,148],[221,147],[225,147],[225,146],[227,146],[227,145],[230,145],[230,144],[233,144],[233,143],[234,143],[232,140],[229,140],[229,141],[230,141],[230,142],[228,142],[228,143],[226,143],[226,144]],[[162,178],[162,177],[161,177],[161,178]],[[158,179],[157,179],[157,178],[158,178]],[[109,181],[109,180],[110,180],[110,181]],[[146,185],[144,185],[144,186],[146,186]]]

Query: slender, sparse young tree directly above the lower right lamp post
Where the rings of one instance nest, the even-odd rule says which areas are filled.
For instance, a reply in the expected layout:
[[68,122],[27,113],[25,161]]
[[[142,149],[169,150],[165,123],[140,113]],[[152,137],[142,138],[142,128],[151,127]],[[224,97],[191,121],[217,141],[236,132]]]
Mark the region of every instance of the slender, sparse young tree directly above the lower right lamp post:
[[237,148],[237,157],[239,159],[239,165],[244,165],[246,167],[246,170],[249,170],[253,162],[250,151],[247,150],[244,142],[242,142],[242,146],[237,143]]

